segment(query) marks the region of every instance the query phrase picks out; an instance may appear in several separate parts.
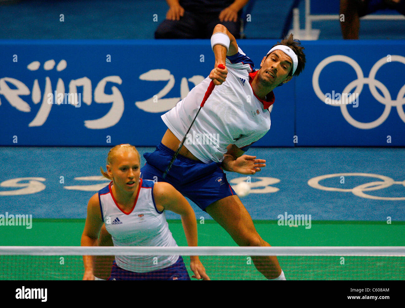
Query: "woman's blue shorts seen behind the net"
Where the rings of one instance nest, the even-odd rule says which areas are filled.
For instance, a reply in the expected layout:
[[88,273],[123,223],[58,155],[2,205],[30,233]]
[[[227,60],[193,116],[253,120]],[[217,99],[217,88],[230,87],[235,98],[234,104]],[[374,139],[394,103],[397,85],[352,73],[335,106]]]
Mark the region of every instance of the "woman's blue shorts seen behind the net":
[[117,266],[115,260],[111,276],[107,280],[190,280],[183,258],[180,256],[176,263],[167,268],[147,273],[135,273]]

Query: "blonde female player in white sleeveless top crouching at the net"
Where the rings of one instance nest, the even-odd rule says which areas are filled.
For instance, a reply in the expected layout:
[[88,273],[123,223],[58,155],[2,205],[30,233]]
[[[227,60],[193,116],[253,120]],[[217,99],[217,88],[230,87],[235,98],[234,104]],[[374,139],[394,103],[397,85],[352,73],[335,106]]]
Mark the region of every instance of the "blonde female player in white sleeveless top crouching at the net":
[[[164,210],[181,215],[189,246],[197,246],[194,211],[172,185],[140,178],[140,156],[130,144],[113,147],[107,157],[111,183],[94,194],[87,206],[81,246],[96,246],[105,223],[114,246],[177,246],[166,222]],[[94,280],[94,260],[83,256],[83,280]],[[190,256],[193,278],[209,280],[198,256]],[[108,280],[190,280],[183,259],[169,256],[115,255]]]

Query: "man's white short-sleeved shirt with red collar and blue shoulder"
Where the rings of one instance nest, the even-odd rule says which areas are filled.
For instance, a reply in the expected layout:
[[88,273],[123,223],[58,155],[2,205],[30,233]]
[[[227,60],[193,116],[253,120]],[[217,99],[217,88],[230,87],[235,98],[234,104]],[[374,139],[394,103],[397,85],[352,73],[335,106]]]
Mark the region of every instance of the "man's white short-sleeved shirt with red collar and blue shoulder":
[[[221,162],[226,147],[235,144],[246,151],[247,146],[262,138],[270,129],[269,106],[274,102],[260,100],[253,92],[254,64],[239,48],[235,55],[226,57],[228,75],[222,85],[215,86],[192,125],[185,147],[200,161],[208,164]],[[190,127],[211,79],[196,85],[175,107],[162,115],[167,127],[183,140]],[[245,147],[245,149],[243,149]]]

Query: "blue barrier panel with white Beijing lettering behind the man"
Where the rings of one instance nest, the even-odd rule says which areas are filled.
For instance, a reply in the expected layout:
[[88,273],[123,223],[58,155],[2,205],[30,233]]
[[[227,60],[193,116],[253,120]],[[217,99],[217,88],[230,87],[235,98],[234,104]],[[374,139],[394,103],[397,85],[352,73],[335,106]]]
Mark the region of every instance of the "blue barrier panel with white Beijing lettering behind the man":
[[[241,42],[241,48],[260,64],[274,43]],[[160,116],[214,65],[209,40],[3,40],[0,46],[1,145],[156,146],[166,131]],[[291,83],[275,91],[271,132],[257,145],[293,146],[293,89]]]

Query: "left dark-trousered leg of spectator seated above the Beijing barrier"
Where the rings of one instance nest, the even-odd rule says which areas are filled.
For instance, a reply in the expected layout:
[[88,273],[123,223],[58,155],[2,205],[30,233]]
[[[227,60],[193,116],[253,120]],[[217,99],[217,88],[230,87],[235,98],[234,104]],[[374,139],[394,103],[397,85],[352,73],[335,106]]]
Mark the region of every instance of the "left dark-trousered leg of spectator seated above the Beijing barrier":
[[156,29],[155,38],[197,38],[198,27],[194,14],[185,11],[180,20],[165,19]]

